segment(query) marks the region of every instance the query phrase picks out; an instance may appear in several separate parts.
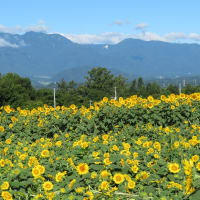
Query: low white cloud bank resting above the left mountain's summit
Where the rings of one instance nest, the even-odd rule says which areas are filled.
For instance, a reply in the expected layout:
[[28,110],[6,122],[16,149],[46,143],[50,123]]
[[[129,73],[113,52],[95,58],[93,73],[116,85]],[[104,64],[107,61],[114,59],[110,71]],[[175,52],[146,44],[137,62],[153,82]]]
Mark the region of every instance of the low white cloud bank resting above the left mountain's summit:
[[44,21],[39,21],[38,24],[32,24],[26,27],[21,27],[20,25],[17,25],[15,27],[7,27],[0,24],[0,32],[2,33],[22,34],[28,31],[47,32],[48,28],[45,25]]

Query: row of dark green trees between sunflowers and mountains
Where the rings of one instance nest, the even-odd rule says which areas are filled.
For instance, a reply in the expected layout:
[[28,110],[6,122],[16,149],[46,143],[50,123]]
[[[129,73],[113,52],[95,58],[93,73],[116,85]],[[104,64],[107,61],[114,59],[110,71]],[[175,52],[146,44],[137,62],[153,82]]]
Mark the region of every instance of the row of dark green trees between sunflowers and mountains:
[[[85,77],[85,82],[78,84],[74,81],[67,82],[62,79],[56,83],[56,105],[89,106],[91,102],[99,101],[103,97],[114,98],[116,87],[117,97],[129,97],[131,95],[143,98],[152,95],[159,98],[160,95],[178,94],[176,85],[168,85],[162,88],[158,83],[145,84],[142,77],[127,82],[121,75],[114,76],[103,67],[92,68]],[[182,88],[185,94],[200,92],[200,86],[186,85]],[[34,108],[47,104],[53,106],[53,89],[36,89],[29,78],[20,77],[15,73],[0,75],[0,106],[10,105],[14,108]]]

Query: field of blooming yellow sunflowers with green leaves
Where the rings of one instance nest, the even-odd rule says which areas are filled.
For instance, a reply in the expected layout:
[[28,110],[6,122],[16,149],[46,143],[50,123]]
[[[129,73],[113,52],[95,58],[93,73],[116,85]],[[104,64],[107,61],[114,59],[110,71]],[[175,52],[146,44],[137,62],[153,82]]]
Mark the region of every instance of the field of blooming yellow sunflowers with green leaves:
[[0,108],[0,199],[199,200],[200,93]]

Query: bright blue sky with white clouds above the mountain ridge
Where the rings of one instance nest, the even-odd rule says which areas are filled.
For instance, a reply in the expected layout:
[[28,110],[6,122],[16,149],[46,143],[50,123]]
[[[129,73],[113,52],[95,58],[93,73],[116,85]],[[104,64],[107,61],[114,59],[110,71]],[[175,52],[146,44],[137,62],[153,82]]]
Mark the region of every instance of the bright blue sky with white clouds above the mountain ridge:
[[199,43],[199,8],[200,0],[2,0],[0,32],[60,33],[79,43]]

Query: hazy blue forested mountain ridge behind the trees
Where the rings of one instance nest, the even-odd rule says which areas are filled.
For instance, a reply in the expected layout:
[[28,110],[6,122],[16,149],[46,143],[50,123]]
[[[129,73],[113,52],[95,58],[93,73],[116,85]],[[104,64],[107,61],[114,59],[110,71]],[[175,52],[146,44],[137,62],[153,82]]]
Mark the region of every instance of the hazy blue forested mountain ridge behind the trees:
[[[0,33],[0,72],[82,81],[87,69],[106,67],[127,78],[200,74],[200,45],[125,39],[115,45],[77,44],[59,34]],[[0,42],[1,42],[0,40]],[[1,43],[0,43],[1,44]],[[74,72],[73,72],[74,71]]]

